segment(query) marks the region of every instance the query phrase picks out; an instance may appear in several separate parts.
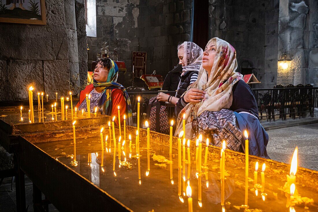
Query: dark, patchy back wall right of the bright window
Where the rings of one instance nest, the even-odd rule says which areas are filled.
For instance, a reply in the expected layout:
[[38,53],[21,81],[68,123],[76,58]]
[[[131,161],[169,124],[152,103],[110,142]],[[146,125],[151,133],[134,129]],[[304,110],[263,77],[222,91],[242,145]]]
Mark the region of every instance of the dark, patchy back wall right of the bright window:
[[132,51],[147,52],[147,74],[165,76],[177,64],[176,47],[190,39],[192,0],[96,0],[97,37],[88,37],[88,67],[108,42],[126,62],[124,86],[131,85]]

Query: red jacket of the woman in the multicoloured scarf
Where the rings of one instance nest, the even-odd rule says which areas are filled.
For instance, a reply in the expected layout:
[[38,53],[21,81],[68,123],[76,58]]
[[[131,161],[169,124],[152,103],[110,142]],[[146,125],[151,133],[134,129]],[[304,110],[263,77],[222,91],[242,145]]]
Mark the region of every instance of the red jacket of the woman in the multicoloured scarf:
[[[93,84],[87,85],[84,90],[82,90],[79,93],[79,102],[77,103],[76,107],[78,108],[79,105],[83,102],[86,101],[86,94],[88,95],[92,90],[94,89]],[[103,115],[108,115],[111,116],[111,119],[115,116],[114,122],[116,125],[118,125],[118,108],[117,106],[119,105],[120,109],[120,117],[121,117],[121,125],[124,124],[124,114],[126,114],[126,102],[124,98],[124,94],[120,88],[114,88],[111,94],[112,98],[112,113],[111,114],[103,114]],[[113,107],[114,105],[114,107]],[[126,114],[127,116],[127,114]]]

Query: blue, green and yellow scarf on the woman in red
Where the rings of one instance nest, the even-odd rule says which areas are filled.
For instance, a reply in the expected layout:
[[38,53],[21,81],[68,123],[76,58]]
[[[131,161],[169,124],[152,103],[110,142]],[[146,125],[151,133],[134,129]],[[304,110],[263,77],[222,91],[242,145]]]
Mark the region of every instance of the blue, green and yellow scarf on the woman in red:
[[[110,60],[110,59],[109,59]],[[132,125],[132,112],[131,112],[131,103],[129,99],[129,95],[121,84],[117,83],[118,78],[118,67],[115,66],[115,63],[113,60],[111,61],[111,67],[108,72],[108,77],[106,82],[98,82],[96,80],[93,80],[93,85],[95,88],[99,88],[102,90],[102,94],[100,96],[100,99],[97,102],[97,108],[100,111],[101,114],[105,115],[111,115],[112,112],[112,91],[113,89],[120,88],[123,92],[125,102],[126,102],[126,110],[127,110],[127,123],[128,125]],[[94,74],[94,72],[93,72]]]

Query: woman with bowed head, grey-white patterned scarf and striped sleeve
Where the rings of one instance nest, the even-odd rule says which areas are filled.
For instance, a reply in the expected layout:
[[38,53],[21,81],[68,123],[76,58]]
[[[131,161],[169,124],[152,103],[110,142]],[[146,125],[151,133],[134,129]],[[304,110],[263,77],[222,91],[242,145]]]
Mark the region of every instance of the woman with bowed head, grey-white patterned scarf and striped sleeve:
[[183,42],[178,45],[179,64],[182,65],[182,74],[175,96],[164,93],[157,95],[159,102],[176,104],[180,96],[187,90],[188,86],[198,78],[199,69],[202,63],[203,50],[193,42]]

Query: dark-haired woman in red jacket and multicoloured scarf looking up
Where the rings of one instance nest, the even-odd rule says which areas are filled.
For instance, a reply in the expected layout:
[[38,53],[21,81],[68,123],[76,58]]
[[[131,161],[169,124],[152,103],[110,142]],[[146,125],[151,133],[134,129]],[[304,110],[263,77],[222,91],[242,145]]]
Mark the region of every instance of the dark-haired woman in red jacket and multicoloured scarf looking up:
[[97,61],[93,71],[93,84],[86,86],[79,94],[78,110],[87,112],[86,95],[90,98],[90,112],[95,107],[100,114],[116,117],[114,122],[118,125],[118,106],[120,108],[121,123],[126,115],[128,125],[132,124],[132,113],[129,96],[125,88],[117,83],[118,67],[113,60],[101,58]]

